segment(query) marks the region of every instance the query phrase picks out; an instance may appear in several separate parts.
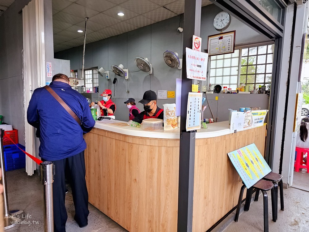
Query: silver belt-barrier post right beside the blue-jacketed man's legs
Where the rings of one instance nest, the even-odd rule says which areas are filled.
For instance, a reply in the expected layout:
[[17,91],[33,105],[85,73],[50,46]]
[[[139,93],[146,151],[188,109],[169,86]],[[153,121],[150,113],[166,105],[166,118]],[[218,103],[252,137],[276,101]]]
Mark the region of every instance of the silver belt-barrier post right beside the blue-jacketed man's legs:
[[44,185],[44,232],[54,231],[53,182],[55,166],[51,161],[40,164],[40,180]]

